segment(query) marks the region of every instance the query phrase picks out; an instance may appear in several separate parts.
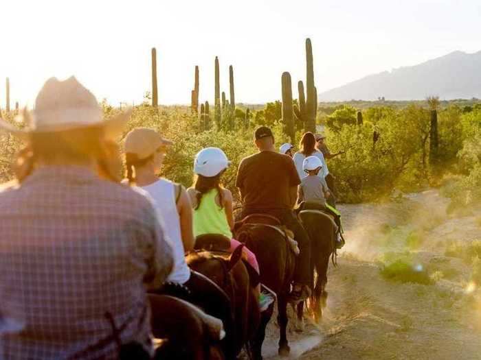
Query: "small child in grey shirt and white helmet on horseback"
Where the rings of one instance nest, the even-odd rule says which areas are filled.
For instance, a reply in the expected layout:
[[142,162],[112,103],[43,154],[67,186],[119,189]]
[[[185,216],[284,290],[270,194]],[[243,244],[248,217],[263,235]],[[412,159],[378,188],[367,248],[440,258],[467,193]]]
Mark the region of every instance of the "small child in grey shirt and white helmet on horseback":
[[307,173],[307,176],[301,180],[298,187],[298,204],[304,202],[306,208],[314,208],[334,216],[338,229],[336,248],[340,249],[345,243],[342,236],[341,213],[326,203],[326,199],[331,194],[324,177],[317,176],[321,169],[322,161],[317,156],[308,156],[304,159],[302,170]]

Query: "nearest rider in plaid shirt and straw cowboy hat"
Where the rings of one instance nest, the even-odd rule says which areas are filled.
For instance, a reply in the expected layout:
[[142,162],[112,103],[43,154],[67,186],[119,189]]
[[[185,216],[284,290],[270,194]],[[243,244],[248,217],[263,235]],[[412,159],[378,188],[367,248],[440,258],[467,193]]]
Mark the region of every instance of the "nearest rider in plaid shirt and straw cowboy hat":
[[151,202],[98,174],[129,115],[104,121],[75,77],[52,77],[23,130],[0,121],[27,143],[28,165],[0,193],[2,359],[117,359],[124,345],[152,355],[145,289],[167,278],[172,248]]

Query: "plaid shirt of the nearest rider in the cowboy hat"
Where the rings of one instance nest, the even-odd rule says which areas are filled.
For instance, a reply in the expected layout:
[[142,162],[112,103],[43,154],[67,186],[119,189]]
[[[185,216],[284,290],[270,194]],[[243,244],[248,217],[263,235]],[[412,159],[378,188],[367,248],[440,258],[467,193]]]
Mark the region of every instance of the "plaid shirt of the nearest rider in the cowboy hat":
[[34,171],[0,193],[0,359],[116,359],[122,342],[152,350],[145,284],[172,249],[152,204],[85,167]]

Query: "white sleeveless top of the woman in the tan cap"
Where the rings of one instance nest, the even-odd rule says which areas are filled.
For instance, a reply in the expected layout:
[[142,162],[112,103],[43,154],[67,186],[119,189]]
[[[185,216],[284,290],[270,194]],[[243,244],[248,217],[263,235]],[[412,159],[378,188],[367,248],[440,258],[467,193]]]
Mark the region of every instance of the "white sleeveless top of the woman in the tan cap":
[[172,241],[174,269],[167,278],[172,283],[184,284],[190,278],[190,269],[186,263],[186,251],[183,248],[180,217],[175,204],[174,183],[159,179],[153,184],[142,187],[153,198],[159,217],[164,219],[166,232]]

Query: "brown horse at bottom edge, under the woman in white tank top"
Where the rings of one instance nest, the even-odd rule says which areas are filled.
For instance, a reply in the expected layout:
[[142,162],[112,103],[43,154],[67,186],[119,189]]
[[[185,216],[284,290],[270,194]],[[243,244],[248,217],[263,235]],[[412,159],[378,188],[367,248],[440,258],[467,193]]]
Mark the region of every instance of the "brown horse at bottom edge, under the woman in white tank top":
[[160,346],[154,359],[223,360],[222,322],[172,296],[148,294],[151,325]]

